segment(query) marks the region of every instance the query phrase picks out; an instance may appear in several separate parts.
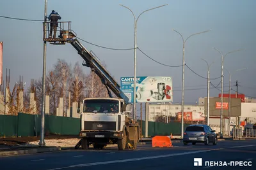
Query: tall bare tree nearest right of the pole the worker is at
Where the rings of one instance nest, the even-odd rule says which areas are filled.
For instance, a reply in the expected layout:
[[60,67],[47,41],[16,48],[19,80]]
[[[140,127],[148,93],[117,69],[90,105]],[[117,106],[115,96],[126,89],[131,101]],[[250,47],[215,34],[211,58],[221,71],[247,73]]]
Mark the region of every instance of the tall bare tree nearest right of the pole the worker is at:
[[54,71],[56,73],[56,76],[60,78],[60,87],[62,88],[63,92],[63,117],[67,115],[67,84],[68,81],[70,81],[70,65],[67,64],[67,62],[63,59],[58,59],[57,63],[54,64]]

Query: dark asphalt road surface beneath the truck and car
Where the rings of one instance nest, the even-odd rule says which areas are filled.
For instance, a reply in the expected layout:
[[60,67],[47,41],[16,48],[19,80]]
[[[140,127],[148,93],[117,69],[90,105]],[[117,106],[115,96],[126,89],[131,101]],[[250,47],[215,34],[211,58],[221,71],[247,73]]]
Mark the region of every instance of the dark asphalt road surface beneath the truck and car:
[[[12,157],[0,157],[0,169],[36,170],[165,170],[165,169],[256,169],[256,140],[219,141],[214,146],[203,144],[184,146],[173,143],[173,148],[138,146],[138,150],[62,150]],[[194,166],[194,158],[202,158],[202,166]],[[216,161],[205,165],[205,161]],[[227,166],[221,166],[222,164]],[[252,166],[234,166],[232,161],[251,161]],[[239,163],[239,162],[237,162]],[[242,162],[243,164],[243,162]],[[212,166],[211,166],[212,165]],[[247,165],[247,164],[246,164]]]

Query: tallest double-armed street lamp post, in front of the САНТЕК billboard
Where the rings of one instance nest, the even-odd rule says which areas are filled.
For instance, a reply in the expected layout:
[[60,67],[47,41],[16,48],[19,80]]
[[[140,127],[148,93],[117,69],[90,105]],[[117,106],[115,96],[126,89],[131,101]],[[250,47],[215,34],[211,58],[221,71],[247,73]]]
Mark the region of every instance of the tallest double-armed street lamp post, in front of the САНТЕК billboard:
[[164,5],[161,5],[161,6],[157,6],[155,8],[150,8],[148,10],[145,10],[143,11],[142,13],[140,13],[139,17],[136,19],[134,13],[132,12],[132,10],[130,8],[128,8],[127,6],[124,6],[122,4],[120,4],[120,6],[123,6],[124,8],[127,8],[129,11],[131,11],[133,17],[134,17],[134,92],[133,92],[133,119],[136,121],[137,120],[137,117],[136,117],[136,48],[138,48],[137,46],[137,22],[138,22],[138,19],[140,18],[140,16],[145,13],[146,11],[150,11],[150,10],[154,10],[156,8],[160,8],[160,7],[163,7],[163,6],[166,6],[168,4],[164,4]]

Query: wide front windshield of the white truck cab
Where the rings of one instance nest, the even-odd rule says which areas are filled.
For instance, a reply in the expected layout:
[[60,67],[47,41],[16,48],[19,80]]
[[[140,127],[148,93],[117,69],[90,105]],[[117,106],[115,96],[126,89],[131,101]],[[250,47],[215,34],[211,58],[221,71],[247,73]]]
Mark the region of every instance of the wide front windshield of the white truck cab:
[[118,101],[92,99],[85,100],[83,104],[83,112],[90,113],[118,113]]

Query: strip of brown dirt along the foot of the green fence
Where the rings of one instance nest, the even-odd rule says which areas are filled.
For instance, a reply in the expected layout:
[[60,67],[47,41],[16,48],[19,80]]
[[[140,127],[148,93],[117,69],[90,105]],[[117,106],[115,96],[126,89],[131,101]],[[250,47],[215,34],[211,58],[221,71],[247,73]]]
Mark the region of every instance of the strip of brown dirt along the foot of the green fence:
[[[44,139],[70,139],[70,138],[79,138],[75,135],[49,135],[45,136]],[[20,137],[20,138],[0,138],[0,147],[1,146],[15,146],[22,145],[32,141],[40,140],[40,136],[31,136],[31,137]]]

